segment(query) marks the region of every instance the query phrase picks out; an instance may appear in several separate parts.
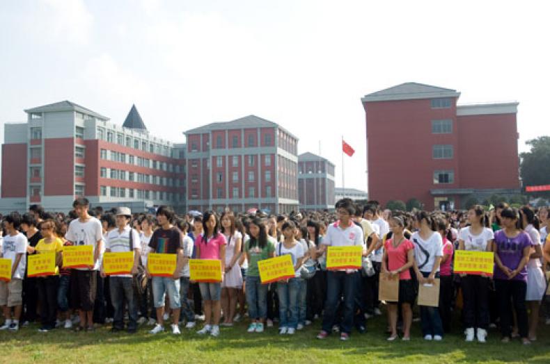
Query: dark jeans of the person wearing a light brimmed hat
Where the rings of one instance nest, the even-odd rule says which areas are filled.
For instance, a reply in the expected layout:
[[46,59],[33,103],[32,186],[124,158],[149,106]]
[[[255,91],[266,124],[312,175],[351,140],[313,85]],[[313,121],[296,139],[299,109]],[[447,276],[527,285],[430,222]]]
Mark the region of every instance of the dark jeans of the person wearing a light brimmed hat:
[[113,328],[124,329],[124,303],[126,301],[128,304],[128,329],[137,329],[137,301],[134,296],[132,278],[110,276],[109,289],[111,291],[111,303],[115,309]]

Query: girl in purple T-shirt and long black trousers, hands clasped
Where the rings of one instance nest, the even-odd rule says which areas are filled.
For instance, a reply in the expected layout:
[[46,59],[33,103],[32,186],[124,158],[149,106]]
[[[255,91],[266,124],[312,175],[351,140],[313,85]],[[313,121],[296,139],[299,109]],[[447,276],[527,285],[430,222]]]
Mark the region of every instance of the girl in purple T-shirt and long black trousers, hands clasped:
[[531,256],[533,242],[523,231],[524,224],[519,211],[515,208],[504,208],[501,211],[503,229],[494,234],[494,286],[501,315],[502,342],[509,342],[512,334],[510,313],[514,303],[519,336],[528,345],[527,308],[525,297],[527,291],[526,265]]

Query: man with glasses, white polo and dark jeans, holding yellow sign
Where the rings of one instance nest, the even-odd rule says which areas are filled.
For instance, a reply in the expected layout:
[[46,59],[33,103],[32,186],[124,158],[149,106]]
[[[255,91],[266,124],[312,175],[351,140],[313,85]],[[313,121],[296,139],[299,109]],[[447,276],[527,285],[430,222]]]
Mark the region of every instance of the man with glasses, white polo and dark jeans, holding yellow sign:
[[[363,247],[363,229],[352,221],[355,206],[351,199],[340,199],[336,202],[338,221],[329,225],[317,256],[324,254],[327,247],[347,247],[357,245]],[[343,319],[340,322],[340,340],[348,340],[352,331],[354,319],[355,287],[359,279],[357,270],[331,270],[327,272],[327,301],[324,306],[322,330],[318,339],[329,336],[336,321],[336,308],[340,301],[341,292],[344,295]]]

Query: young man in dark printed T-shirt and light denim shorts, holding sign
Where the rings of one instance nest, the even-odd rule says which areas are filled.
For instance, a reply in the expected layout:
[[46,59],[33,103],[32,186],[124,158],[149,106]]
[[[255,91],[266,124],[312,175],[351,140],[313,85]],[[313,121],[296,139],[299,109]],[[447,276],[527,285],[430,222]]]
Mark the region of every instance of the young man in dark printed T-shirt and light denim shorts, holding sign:
[[[152,277],[152,295],[157,309],[157,324],[150,333],[160,333],[164,331],[164,299],[168,293],[170,308],[172,309],[172,333],[179,335],[180,331],[180,276],[182,274],[183,257],[183,237],[180,229],[172,225],[174,211],[168,206],[159,206],[157,208],[157,222],[159,229],[152,233],[149,242],[150,253],[176,254],[176,267],[172,276],[153,276]],[[150,277],[149,268],[147,275]]]

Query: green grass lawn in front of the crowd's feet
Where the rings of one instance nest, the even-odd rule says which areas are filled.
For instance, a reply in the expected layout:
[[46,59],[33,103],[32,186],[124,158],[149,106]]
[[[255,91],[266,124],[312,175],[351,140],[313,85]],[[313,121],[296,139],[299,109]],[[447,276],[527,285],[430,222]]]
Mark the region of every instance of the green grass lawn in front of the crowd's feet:
[[[368,320],[368,333],[352,333],[348,342],[338,336],[317,340],[319,322],[294,336],[279,336],[276,328],[265,333],[246,333],[246,324],[222,328],[219,338],[198,336],[182,329],[181,336],[156,336],[143,326],[134,335],[57,329],[39,333],[31,325],[17,333],[0,331],[0,362],[28,363],[550,363],[549,326],[540,326],[539,340],[521,345],[501,344],[490,331],[485,345],[466,344],[455,331],[443,342],[424,342],[419,323],[414,323],[410,342],[386,342],[385,317]],[[167,326],[168,328],[168,326]]]

